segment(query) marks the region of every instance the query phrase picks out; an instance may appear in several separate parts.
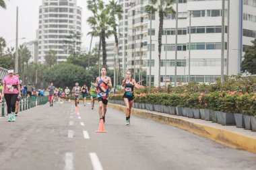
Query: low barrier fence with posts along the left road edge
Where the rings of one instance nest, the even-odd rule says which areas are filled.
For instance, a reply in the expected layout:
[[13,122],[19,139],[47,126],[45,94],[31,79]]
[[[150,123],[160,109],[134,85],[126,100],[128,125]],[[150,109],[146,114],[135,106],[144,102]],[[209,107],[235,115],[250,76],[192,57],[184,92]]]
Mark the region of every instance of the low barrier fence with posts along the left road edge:
[[[34,108],[38,105],[44,105],[45,103],[48,102],[48,96],[32,96],[32,97],[22,97],[20,99],[20,112],[24,110],[29,110],[30,108]],[[5,116],[5,111],[6,110],[6,104],[5,104],[5,98],[3,97],[2,99],[2,114],[1,116]]]

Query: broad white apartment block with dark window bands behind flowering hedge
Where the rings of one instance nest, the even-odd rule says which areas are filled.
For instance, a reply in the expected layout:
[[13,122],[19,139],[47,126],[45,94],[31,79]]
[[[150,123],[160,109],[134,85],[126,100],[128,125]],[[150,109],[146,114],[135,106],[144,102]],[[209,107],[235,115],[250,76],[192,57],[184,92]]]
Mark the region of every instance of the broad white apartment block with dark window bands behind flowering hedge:
[[[131,0],[128,16],[128,47],[127,68],[138,71],[138,52],[142,60],[150,59],[150,34],[152,34],[152,82],[158,85],[158,13],[152,15],[152,31],[150,32],[150,17],[148,13],[141,13],[143,7],[150,1]],[[175,2],[172,5],[176,9]],[[243,10],[242,10],[243,9]],[[230,43],[227,44],[228,2],[225,1],[225,36],[224,36],[224,74],[227,63],[227,49],[229,49],[228,75],[240,73],[240,64],[244,50],[256,38],[256,1],[230,1]],[[243,11],[243,13],[242,13]],[[189,23],[191,13],[191,23]],[[241,17],[243,16],[243,17]],[[177,39],[177,81],[183,83],[197,81],[209,83],[221,75],[221,37],[222,37],[222,1],[221,0],[179,0],[178,9],[178,39]],[[189,28],[191,24],[191,28]],[[162,53],[160,58],[160,85],[164,85],[164,77],[174,83],[175,66],[175,15],[164,17],[162,32]],[[191,29],[191,43],[189,48],[189,30]],[[135,32],[134,32],[135,30]],[[135,36],[135,39],[134,39]],[[242,43],[243,42],[243,43]],[[135,44],[135,49],[134,49]],[[148,49],[146,48],[148,46]],[[146,49],[146,51],[144,51]],[[190,50],[189,50],[190,49]],[[243,51],[243,52],[242,52]],[[190,52],[190,75],[189,75]],[[135,54],[135,62],[134,62]],[[134,66],[135,63],[135,66]],[[165,73],[166,67],[166,73]],[[150,68],[147,67],[149,82]],[[169,83],[169,82],[168,82]]]

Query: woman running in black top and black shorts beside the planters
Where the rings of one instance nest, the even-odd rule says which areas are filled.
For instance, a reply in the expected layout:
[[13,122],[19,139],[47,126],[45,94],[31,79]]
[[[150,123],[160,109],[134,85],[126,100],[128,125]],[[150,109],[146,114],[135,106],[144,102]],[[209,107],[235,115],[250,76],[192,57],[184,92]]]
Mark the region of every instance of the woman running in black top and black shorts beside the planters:
[[130,116],[131,116],[131,107],[133,106],[133,99],[134,94],[133,90],[134,87],[136,89],[139,89],[139,85],[137,85],[136,81],[134,79],[131,79],[131,72],[126,72],[126,79],[123,80],[122,86],[125,87],[125,93],[123,95],[123,100],[125,101],[126,106],[126,125],[130,124]]

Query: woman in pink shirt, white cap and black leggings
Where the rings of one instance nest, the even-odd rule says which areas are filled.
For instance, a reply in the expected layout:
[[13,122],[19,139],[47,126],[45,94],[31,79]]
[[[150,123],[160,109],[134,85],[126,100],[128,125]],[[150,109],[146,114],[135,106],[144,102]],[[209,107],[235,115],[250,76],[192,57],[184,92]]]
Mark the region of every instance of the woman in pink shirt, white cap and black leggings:
[[[15,103],[20,95],[20,81],[13,75],[13,69],[8,70],[8,74],[3,79],[3,95],[7,103],[8,122],[15,121]],[[19,95],[18,95],[19,93]]]

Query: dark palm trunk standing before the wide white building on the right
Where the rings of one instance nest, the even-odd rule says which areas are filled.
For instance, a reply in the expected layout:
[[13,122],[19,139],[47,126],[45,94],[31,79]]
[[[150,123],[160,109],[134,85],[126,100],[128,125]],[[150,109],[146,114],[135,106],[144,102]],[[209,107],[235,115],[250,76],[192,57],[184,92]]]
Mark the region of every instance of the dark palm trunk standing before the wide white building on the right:
[[162,51],[162,26],[164,24],[164,13],[162,9],[159,9],[159,31],[158,31],[158,87],[160,87],[160,77],[161,77],[161,51]]

